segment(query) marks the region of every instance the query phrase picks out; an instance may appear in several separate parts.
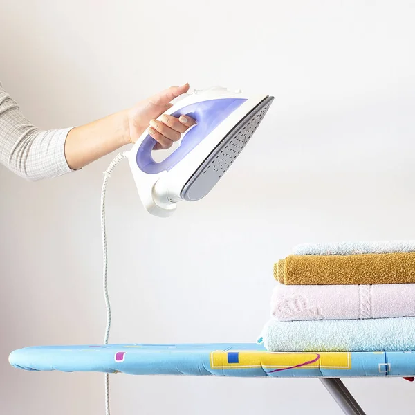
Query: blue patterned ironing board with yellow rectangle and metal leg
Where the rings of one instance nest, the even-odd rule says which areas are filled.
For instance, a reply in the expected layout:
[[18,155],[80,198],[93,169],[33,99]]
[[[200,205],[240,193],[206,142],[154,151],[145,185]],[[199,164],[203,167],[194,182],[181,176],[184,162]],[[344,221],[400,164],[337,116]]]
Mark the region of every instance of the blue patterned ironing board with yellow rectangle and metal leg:
[[27,347],[13,351],[9,361],[29,371],[320,378],[347,415],[365,412],[339,378],[415,375],[412,351],[273,353],[245,343]]

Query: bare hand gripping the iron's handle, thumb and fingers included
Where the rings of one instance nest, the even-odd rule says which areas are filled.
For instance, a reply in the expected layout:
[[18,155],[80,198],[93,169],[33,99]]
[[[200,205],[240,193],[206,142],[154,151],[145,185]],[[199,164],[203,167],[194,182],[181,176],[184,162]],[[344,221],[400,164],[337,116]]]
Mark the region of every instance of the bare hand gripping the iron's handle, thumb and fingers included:
[[149,125],[149,134],[157,141],[154,147],[156,150],[168,149],[172,147],[173,142],[180,140],[181,134],[196,124],[193,118],[188,116],[175,118],[166,115],[160,121],[156,118],[172,107],[170,101],[187,91],[189,84],[172,86],[147,100],[138,102],[128,112],[129,142],[136,142]]

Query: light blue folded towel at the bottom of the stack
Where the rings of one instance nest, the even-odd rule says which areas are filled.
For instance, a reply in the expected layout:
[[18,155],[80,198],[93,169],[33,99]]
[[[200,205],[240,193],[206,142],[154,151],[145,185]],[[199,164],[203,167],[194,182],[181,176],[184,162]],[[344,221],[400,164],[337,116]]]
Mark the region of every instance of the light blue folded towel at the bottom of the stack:
[[415,318],[270,320],[262,338],[269,351],[414,351]]

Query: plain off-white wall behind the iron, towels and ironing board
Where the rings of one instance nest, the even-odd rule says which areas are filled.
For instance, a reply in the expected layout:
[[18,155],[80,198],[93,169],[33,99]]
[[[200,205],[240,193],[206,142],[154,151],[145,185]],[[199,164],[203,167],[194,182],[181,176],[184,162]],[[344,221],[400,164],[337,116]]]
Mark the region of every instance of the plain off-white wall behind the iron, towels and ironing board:
[[[297,243],[413,239],[412,1],[1,0],[0,79],[26,116],[71,127],[190,82],[276,99],[208,197],[143,210],[109,182],[111,342],[250,342],[272,266]],[[29,373],[13,349],[102,342],[100,190],[113,155],[28,183],[0,167],[0,405],[103,414],[101,374]],[[346,380],[368,414],[415,385]],[[318,380],[111,376],[113,414],[340,414]]]

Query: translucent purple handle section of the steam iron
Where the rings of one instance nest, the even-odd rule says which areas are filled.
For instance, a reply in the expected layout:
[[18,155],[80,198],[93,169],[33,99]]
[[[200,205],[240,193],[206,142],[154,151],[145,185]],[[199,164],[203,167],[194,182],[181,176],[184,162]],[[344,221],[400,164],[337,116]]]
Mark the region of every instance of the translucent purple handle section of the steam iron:
[[137,151],[138,167],[147,174],[169,171],[245,101],[245,98],[208,100],[187,105],[187,107],[172,113],[171,115],[176,118],[190,116],[196,120],[197,124],[185,133],[180,147],[160,163],[156,163],[151,156],[156,140],[147,135]]

